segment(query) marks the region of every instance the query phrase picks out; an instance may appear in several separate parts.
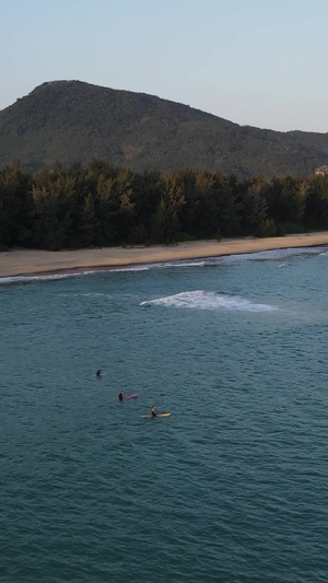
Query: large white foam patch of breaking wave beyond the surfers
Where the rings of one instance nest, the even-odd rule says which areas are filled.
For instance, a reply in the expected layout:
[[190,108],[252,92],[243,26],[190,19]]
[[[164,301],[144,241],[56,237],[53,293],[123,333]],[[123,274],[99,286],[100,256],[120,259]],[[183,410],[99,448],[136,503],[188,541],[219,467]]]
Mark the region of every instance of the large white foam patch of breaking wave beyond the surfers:
[[157,300],[141,302],[143,307],[165,306],[165,307],[187,307],[197,310],[239,310],[245,312],[273,312],[277,306],[269,304],[258,304],[239,298],[237,295],[225,295],[203,290],[181,292]]

